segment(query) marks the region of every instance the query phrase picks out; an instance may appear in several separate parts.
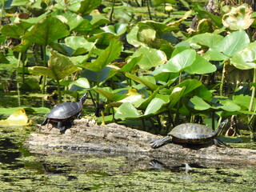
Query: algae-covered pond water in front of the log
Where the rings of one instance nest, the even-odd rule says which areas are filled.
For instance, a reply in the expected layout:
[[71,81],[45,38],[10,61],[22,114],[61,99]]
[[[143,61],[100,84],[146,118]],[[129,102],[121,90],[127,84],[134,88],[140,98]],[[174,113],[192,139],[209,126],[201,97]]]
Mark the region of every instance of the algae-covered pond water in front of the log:
[[0,191],[255,191],[256,168],[23,145],[35,128],[0,128]]

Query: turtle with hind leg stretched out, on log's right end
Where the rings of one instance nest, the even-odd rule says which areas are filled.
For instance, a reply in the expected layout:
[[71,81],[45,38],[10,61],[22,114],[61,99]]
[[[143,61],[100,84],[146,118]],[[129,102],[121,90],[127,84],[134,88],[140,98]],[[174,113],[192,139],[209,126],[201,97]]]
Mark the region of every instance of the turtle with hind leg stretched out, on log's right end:
[[218,130],[212,130],[207,126],[198,123],[183,123],[175,126],[173,130],[167,134],[166,137],[156,139],[150,142],[152,148],[158,148],[167,144],[168,142],[178,143],[194,143],[194,144],[207,144],[214,142],[216,146],[224,145],[224,142],[218,140],[218,135],[222,132],[222,128],[226,125],[228,120],[221,122]]

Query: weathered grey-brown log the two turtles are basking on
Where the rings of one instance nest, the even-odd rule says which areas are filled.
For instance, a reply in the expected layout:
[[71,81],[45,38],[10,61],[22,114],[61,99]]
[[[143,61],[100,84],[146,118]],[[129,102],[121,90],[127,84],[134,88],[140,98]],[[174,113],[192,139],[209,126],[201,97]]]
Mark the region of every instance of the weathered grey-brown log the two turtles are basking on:
[[[49,126],[50,127],[50,126]],[[256,164],[256,150],[210,146],[181,146],[170,143],[158,149],[150,141],[162,136],[132,129],[115,123],[90,125],[86,120],[74,121],[74,126],[60,134],[58,129],[42,126],[26,141],[30,151],[61,149],[73,152],[97,151],[109,154],[144,155],[152,159],[180,158],[182,160],[214,160],[225,163]]]

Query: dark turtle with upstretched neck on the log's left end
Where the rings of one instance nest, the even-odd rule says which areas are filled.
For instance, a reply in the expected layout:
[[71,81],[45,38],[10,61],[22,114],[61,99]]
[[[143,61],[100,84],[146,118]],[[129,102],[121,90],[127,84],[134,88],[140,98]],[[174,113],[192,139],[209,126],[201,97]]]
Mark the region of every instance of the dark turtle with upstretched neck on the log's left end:
[[62,126],[63,122],[73,122],[74,118],[80,118],[82,114],[82,104],[86,101],[88,92],[82,95],[79,102],[63,102],[54,106],[49,114],[46,115],[46,119],[42,122],[42,126],[48,126],[49,122],[57,122],[57,127],[62,133],[66,130],[65,126]]

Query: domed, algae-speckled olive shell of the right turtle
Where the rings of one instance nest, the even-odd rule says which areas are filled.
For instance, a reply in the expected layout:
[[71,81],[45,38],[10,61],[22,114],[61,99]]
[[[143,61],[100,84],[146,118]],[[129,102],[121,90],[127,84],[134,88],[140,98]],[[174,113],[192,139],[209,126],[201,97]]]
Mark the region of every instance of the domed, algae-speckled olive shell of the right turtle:
[[175,126],[168,134],[174,142],[205,143],[217,136],[217,132],[198,123],[184,123]]

